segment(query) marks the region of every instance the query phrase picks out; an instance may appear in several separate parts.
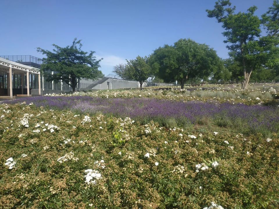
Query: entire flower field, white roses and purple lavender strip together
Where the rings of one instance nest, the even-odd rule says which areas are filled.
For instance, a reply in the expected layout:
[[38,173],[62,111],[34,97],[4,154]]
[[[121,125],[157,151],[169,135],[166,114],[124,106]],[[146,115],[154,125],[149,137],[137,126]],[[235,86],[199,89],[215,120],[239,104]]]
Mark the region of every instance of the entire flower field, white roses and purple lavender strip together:
[[0,206],[278,208],[278,90],[266,88],[1,104]]

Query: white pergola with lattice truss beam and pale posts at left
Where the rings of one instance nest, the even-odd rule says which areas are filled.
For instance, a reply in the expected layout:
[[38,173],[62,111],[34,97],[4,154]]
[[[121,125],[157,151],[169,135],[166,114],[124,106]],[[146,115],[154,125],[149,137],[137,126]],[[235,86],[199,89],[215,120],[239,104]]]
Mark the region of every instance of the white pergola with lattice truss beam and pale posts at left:
[[[41,82],[40,82],[40,69],[33,68],[24,64],[19,64],[10,60],[6,60],[0,57],[0,73],[7,73],[7,90],[9,98],[12,99],[12,74],[27,75],[27,96],[29,94],[29,73],[38,74],[38,87],[39,94],[41,94]],[[21,82],[23,83],[23,77],[21,76]],[[23,94],[23,85],[21,85]]]

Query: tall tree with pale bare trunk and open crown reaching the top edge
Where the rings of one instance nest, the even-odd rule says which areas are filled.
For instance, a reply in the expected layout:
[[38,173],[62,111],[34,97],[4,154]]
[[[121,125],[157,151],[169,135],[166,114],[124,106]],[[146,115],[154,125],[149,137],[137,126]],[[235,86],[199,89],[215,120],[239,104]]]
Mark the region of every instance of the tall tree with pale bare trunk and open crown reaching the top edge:
[[219,0],[215,3],[214,10],[206,10],[208,17],[216,18],[225,32],[227,38],[224,43],[230,50],[229,55],[242,64],[244,79],[242,89],[248,86],[253,69],[259,68],[271,60],[271,52],[276,48],[275,39],[271,36],[261,36],[261,20],[254,15],[256,6],[248,8],[246,13],[234,13],[235,6],[230,7],[229,0]]

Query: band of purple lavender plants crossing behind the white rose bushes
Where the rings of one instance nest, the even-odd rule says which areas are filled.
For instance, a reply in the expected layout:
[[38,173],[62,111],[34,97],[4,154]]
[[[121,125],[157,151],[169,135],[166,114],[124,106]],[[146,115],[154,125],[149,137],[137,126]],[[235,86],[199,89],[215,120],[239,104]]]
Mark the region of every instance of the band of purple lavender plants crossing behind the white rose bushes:
[[36,107],[71,110],[76,114],[101,113],[106,116],[130,117],[146,124],[153,120],[165,127],[217,125],[239,132],[269,134],[279,129],[279,110],[260,105],[219,103],[216,100],[171,101],[156,98],[108,98],[90,96],[33,97],[10,101],[33,102]]

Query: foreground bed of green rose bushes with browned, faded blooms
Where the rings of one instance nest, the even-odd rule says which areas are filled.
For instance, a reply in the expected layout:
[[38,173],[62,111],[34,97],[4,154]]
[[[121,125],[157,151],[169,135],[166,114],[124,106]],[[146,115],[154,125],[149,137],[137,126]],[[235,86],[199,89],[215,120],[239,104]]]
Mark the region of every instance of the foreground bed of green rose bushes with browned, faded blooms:
[[[22,127],[27,111],[29,127]],[[1,129],[10,130],[0,136],[4,209],[204,208],[211,202],[223,208],[278,208],[277,134],[270,139],[227,129],[201,134],[101,115],[83,124],[84,115],[28,104],[1,105],[0,112]],[[43,131],[46,123],[60,129]],[[125,138],[125,143],[112,146],[112,138]],[[61,156],[67,160],[60,163]],[[10,157],[16,161],[12,169],[4,164]],[[215,161],[218,166],[212,168]],[[209,168],[196,172],[200,163]],[[85,182],[88,169],[101,174],[96,184]]]

